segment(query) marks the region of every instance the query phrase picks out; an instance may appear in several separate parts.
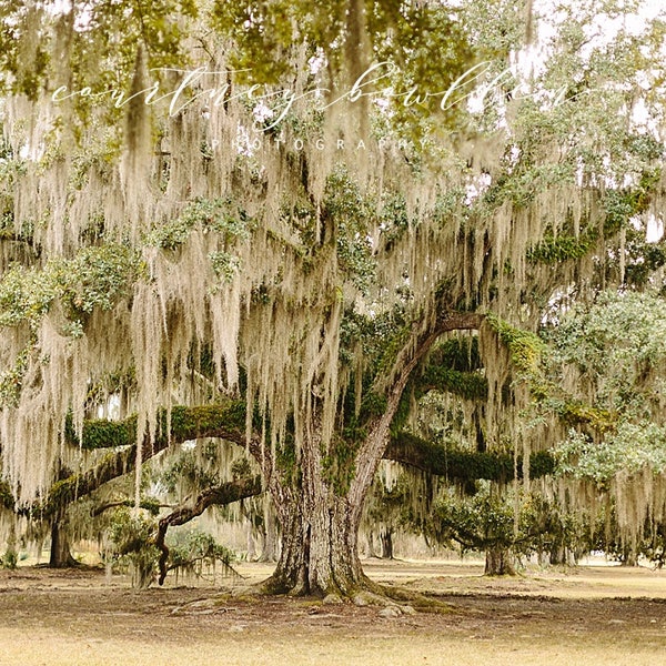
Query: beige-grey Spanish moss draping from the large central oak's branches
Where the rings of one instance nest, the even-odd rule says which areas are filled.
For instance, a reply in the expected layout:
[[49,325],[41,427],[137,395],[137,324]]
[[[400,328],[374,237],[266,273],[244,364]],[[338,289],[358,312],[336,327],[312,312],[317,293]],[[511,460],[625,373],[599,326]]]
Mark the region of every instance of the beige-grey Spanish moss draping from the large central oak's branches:
[[[552,391],[534,333],[554,299],[574,292],[583,299],[598,285],[627,282],[632,229],[650,210],[659,213],[663,193],[648,200],[663,190],[663,176],[624,169],[622,161],[613,173],[616,155],[599,147],[594,125],[601,121],[591,120],[594,131],[577,130],[576,95],[548,110],[535,100],[521,103],[501,85],[488,93],[497,107],[491,128],[483,130],[485,121],[461,102],[460,118],[441,109],[443,129],[420,148],[414,137],[422,128],[410,138],[392,115],[415,108],[390,109],[376,81],[355,107],[353,95],[345,97],[373,49],[385,49],[394,36],[371,43],[374,19],[365,4],[352,0],[337,9],[345,39],[321,26],[316,32],[329,60],[305,39],[297,14],[290,17],[299,39],[275,44],[289,75],[266,65],[271,83],[256,85],[269,91],[261,97],[234,77],[242,58],[233,49],[249,44],[255,53],[258,47],[232,29],[183,37],[188,71],[199,75],[180,88],[179,74],[180,81],[186,74],[154,36],[141,34],[131,48],[121,40],[118,61],[104,51],[125,75],[109,95],[118,82],[103,79],[100,63],[68,75],[65,63],[81,57],[79,42],[92,39],[78,32],[74,10],[51,17],[32,10],[21,62],[38,59],[41,27],[54,31],[44,47],[54,64],[40,85],[23,82],[2,109],[16,172],[3,172],[1,201],[12,240],[24,240],[32,253],[20,268],[10,265],[13,249],[2,243],[0,254],[0,442],[3,474],[20,504],[44,496],[64,465],[90,463],[67,446],[68,418],[81,441],[85,418],[137,414],[139,506],[142,464],[162,430],[171,432],[171,408],[242,396],[248,451],[269,487],[293,498],[284,482],[303,471],[303,492],[330,508],[304,518],[307,529],[316,525],[323,534],[334,514],[361,515],[411,373],[456,327],[478,329],[474,387],[483,384],[483,406],[471,395],[463,402],[450,395],[437,408],[467,424],[461,444],[513,453],[515,476],[525,484],[529,454],[561,441],[574,421],[567,398],[593,401],[595,386],[574,371]],[[442,8],[414,11],[422,9],[425,16]],[[527,13],[531,41],[538,30]],[[463,39],[447,20],[461,60],[460,72],[446,72],[451,83],[470,64],[471,42],[462,42],[475,37]],[[413,54],[402,54],[408,64]],[[509,62],[516,58],[506,53]],[[18,80],[24,74],[16,72]],[[94,103],[82,94],[53,100],[59,85],[70,90],[87,75],[99,94]],[[492,72],[486,75],[490,82]],[[529,90],[537,89],[535,75]],[[158,88],[173,85],[161,101],[153,79]],[[321,99],[335,95],[322,108]],[[608,115],[615,114],[604,110]],[[569,125],[571,135],[563,130]],[[598,160],[584,163],[585,151],[598,152]],[[613,169],[604,172],[606,162]],[[620,182],[624,171],[630,173]],[[463,314],[477,316],[456,323]],[[370,327],[385,317],[385,349],[345,329],[353,317]],[[564,407],[544,407],[548,400]],[[414,394],[404,415],[413,431],[420,427],[416,403]],[[592,423],[583,412],[575,423],[581,430],[602,432],[612,420],[595,413]],[[350,424],[362,427],[350,434]],[[226,472],[232,464],[220,456]],[[344,507],[355,474],[361,501]],[[389,492],[391,474],[384,470]],[[314,487],[314,478],[325,483]],[[589,490],[569,492],[583,501]],[[629,538],[648,517],[662,519],[656,476],[617,476],[610,492]],[[410,503],[423,509],[416,495]],[[355,535],[344,539],[355,552]],[[324,559],[317,564],[323,577]]]

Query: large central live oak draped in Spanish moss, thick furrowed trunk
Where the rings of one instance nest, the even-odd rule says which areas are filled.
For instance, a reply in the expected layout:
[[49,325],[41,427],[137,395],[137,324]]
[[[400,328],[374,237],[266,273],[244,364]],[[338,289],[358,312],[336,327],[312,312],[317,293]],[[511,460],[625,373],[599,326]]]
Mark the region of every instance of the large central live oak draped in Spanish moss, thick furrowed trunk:
[[[437,341],[480,331],[488,451],[529,460],[556,436],[524,427],[551,384],[521,327],[557,289],[624,281],[615,258],[659,205],[658,141],[629,119],[660,120],[660,28],[583,52],[577,17],[527,71],[538,17],[455,6],[3,6],[0,442],[19,504],[220,436],[275,504],[268,587],[351,595],[371,585],[356,542],[380,460],[423,455],[400,435]],[[100,410],[123,427],[94,427]],[[62,467],[77,482],[52,488]]]

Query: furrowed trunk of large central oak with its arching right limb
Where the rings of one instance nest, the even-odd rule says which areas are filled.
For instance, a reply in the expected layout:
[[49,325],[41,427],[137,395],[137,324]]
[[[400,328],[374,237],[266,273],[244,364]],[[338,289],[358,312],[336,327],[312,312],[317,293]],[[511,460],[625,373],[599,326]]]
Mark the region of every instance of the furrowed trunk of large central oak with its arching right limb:
[[[280,480],[268,471],[268,486],[282,527],[282,551],[274,574],[264,584],[273,593],[336,594],[351,597],[359,589],[380,592],[363,573],[359,557],[359,528],[363,505],[377,466],[391,438],[391,424],[403,391],[421,359],[445,331],[476,329],[482,316],[445,311],[432,327],[415,327],[415,334],[398,354],[391,381],[379,380],[376,393],[385,395],[381,414],[370,418],[367,435],[359,446],[353,465],[341,465],[331,474],[326,445],[322,442],[322,416],[316,411],[303,428],[299,461],[300,480]],[[262,456],[258,457],[262,464]],[[352,472],[353,470],[353,472]]]

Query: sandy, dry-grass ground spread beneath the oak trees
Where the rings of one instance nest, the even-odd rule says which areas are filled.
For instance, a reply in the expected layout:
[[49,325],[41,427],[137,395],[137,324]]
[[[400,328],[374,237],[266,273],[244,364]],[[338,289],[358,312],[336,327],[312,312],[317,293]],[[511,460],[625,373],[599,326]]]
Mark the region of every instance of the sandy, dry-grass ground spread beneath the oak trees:
[[0,665],[665,662],[666,572],[584,566],[488,579],[478,563],[373,561],[365,568],[448,606],[382,617],[379,606],[244,594],[270,574],[259,564],[240,567],[243,579],[172,579],[142,593],[102,571],[21,567],[0,572]]

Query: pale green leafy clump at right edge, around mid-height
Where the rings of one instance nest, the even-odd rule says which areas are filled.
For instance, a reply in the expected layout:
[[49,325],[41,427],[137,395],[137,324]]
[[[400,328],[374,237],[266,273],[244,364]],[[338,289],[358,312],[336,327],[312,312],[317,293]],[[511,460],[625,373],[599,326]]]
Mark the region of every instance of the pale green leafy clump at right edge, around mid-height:
[[549,337],[559,362],[576,369],[578,392],[594,405],[587,410],[616,413],[603,436],[569,432],[556,448],[559,473],[607,487],[617,474],[666,472],[663,297],[602,292],[593,305],[573,307]]

